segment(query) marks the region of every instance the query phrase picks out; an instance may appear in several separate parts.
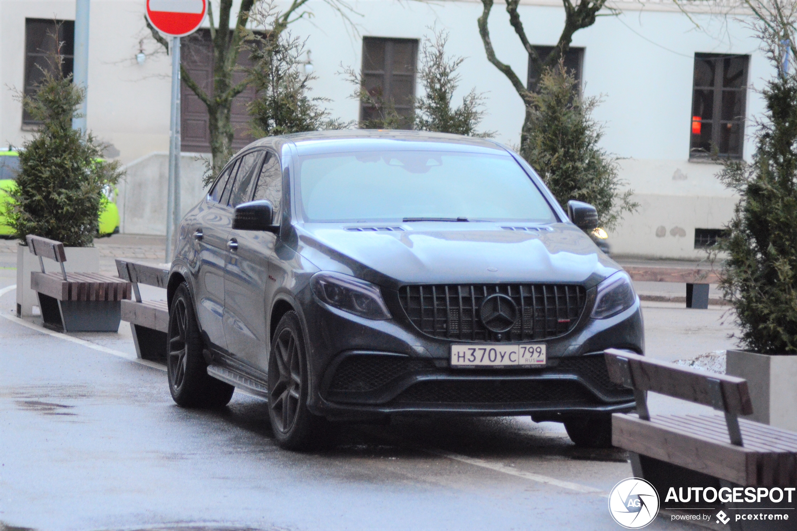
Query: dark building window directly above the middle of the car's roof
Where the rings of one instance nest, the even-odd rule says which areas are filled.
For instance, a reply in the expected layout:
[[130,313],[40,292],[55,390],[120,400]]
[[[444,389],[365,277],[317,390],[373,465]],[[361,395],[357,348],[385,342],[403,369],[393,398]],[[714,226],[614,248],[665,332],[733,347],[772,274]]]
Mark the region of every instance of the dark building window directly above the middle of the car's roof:
[[[402,129],[411,129],[415,99],[415,65],[418,41],[363,37],[363,85],[376,101],[391,102],[404,118]],[[360,104],[360,120],[379,120],[375,105]]]

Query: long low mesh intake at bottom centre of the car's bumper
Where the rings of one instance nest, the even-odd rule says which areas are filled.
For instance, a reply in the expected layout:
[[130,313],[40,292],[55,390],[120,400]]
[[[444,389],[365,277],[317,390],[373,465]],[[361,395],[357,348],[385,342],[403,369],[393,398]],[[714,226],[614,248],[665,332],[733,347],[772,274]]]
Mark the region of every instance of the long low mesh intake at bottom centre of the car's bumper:
[[396,403],[595,403],[590,391],[567,380],[433,380],[418,382]]

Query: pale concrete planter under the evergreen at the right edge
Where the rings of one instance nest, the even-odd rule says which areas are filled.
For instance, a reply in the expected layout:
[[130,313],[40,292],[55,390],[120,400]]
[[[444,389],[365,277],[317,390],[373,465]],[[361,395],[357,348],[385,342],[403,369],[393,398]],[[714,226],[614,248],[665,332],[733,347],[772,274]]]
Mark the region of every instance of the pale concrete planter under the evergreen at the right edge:
[[748,381],[753,409],[748,419],[797,431],[797,356],[729,350],[725,372]]

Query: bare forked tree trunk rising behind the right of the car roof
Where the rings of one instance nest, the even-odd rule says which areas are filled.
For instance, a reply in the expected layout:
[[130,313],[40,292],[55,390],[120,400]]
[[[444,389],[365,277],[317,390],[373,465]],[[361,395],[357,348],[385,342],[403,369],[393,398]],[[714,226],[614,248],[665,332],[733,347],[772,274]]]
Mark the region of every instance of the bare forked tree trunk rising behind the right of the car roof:
[[[528,57],[536,72],[543,73],[547,69],[554,68],[559,62],[559,58],[564,57],[564,54],[570,49],[570,43],[576,31],[595,24],[595,19],[599,16],[598,12],[603,9],[607,0],[578,0],[575,3],[572,2],[572,0],[562,0],[564,6],[564,27],[562,33],[559,35],[559,41],[546,57],[540,57],[540,54],[534,49],[531,41],[528,40],[523,22],[520,21],[520,14],[517,12],[520,0],[505,0],[505,2],[506,10],[509,14],[509,24],[520,38],[520,44],[524,47],[526,53],[528,53]],[[520,99],[523,100],[523,104],[526,108],[523,128],[520,131],[520,152],[525,156],[526,144],[528,144],[528,138],[533,124],[532,108],[534,91],[532,88],[527,87],[515,71],[512,70],[510,65],[500,61],[496,56],[495,50],[493,49],[493,41],[490,40],[490,33],[487,26],[494,2],[493,0],[481,0],[481,3],[484,6],[484,10],[481,13],[481,17],[478,18],[478,26],[481,41],[485,45],[487,58],[512,83],[512,86],[515,88],[518,96],[520,96]],[[614,14],[614,10],[610,11],[611,14]]]

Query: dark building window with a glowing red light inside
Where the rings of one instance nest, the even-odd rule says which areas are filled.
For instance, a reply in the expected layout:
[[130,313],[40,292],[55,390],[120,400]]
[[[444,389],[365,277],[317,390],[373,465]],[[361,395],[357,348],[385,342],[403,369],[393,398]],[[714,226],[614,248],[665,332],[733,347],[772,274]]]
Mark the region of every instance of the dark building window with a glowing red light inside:
[[741,159],[749,57],[695,53],[689,157]]

